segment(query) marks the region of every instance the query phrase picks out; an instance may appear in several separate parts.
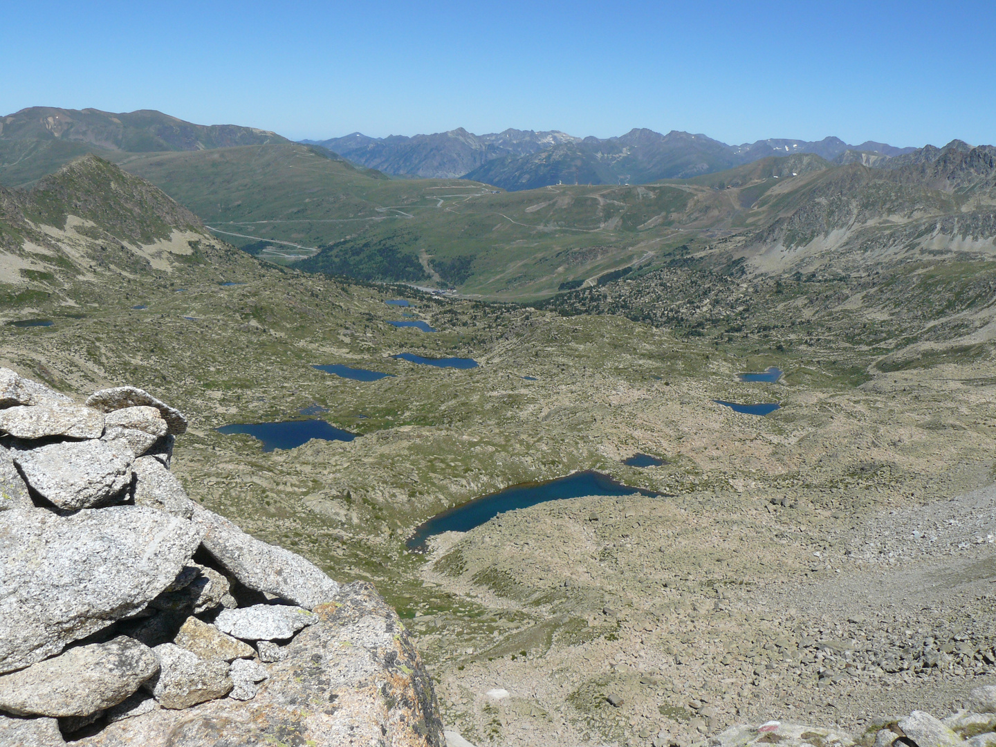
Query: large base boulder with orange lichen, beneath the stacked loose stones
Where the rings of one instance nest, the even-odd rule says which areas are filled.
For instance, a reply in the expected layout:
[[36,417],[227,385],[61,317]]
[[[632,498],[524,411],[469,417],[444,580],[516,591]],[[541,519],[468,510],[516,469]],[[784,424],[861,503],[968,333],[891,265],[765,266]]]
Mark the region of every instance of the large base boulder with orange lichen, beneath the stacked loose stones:
[[286,646],[287,657],[267,665],[269,679],[248,703],[225,698],[185,710],[155,710],[75,744],[444,747],[428,672],[373,586],[345,586],[315,615],[319,622]]

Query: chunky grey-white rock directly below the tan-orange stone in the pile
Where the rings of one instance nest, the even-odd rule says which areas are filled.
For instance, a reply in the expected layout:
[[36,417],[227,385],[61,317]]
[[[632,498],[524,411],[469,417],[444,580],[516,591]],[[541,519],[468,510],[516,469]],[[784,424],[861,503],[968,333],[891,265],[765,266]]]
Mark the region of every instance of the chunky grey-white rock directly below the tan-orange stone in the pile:
[[163,708],[189,708],[224,697],[232,689],[225,661],[202,659],[173,643],[152,650],[159,658],[159,673],[146,687],[152,685],[152,695]]

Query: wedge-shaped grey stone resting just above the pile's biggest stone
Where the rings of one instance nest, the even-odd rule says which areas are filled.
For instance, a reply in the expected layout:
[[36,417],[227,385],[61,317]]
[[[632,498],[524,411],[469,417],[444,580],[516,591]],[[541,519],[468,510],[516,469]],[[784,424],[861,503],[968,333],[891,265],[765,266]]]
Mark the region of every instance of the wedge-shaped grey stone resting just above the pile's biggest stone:
[[28,485],[71,511],[124,497],[131,483],[129,456],[103,441],[63,441],[13,453]]

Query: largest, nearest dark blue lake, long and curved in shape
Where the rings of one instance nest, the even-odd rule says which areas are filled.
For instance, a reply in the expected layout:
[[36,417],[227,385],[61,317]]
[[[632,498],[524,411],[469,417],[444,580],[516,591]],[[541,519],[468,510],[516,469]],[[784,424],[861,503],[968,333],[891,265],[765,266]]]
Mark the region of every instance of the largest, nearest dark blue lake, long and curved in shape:
[[660,493],[643,488],[631,488],[617,482],[609,475],[589,470],[575,472],[567,477],[559,477],[547,482],[524,482],[512,485],[497,493],[482,495],[460,506],[436,514],[428,521],[415,527],[414,534],[405,542],[408,550],[425,550],[425,541],[443,532],[467,532],[490,521],[498,514],[529,508],[546,501],[560,501],[565,498],[580,498],[585,495],[632,495],[659,496]]

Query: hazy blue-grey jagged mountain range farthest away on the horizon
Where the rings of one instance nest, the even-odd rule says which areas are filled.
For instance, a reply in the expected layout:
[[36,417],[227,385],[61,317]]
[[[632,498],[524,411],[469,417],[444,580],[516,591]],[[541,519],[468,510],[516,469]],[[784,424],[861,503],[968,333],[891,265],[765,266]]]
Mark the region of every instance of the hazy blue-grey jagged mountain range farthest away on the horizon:
[[575,137],[559,130],[506,129],[477,135],[460,127],[447,132],[368,137],[360,132],[328,140],[303,140],[344,158],[397,176],[466,178],[508,190],[551,184],[648,183],[684,179],[750,163],[770,155],[816,153],[830,161],[879,165],[910,153],[839,137],[811,142],[766,139],[727,145],[704,134],[631,129],[619,137]]

